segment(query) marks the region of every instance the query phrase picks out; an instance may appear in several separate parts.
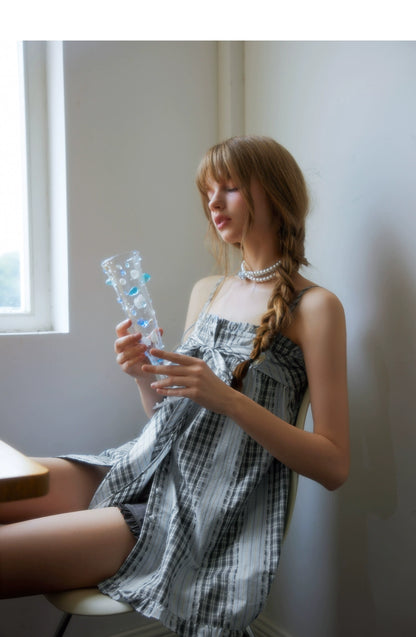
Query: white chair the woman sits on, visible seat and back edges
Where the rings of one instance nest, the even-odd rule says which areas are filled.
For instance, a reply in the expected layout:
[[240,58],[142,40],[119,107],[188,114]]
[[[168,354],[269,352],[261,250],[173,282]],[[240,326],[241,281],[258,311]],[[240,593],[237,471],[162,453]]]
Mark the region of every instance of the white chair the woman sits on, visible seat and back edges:
[[[296,419],[296,427],[299,429],[304,429],[305,427],[309,402],[309,389],[306,389]],[[287,535],[292,520],[297,488],[298,474],[295,471],[291,471],[284,537]],[[108,597],[108,595],[100,593],[98,588],[81,588],[72,591],[63,591],[61,593],[48,593],[45,597],[56,608],[64,612],[64,616],[59,623],[54,637],[63,636],[72,615],[119,615],[122,613],[131,613],[134,610],[130,604],[117,602],[111,599],[111,597]],[[251,628],[246,629],[246,635],[248,637],[254,637]]]

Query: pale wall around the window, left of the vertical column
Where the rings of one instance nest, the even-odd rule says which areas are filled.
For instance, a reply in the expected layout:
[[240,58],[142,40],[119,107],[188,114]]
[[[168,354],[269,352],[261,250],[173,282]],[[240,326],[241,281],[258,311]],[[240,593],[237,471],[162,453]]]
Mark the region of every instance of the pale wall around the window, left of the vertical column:
[[[70,332],[0,337],[0,437],[30,455],[99,451],[145,422],[115,363],[122,314],[100,261],[140,250],[167,347],[193,282],[212,271],[194,174],[217,140],[216,44],[67,42],[64,80]],[[1,637],[36,637],[59,614],[35,597],[0,602],[0,616]],[[137,621],[74,619],[68,637]]]

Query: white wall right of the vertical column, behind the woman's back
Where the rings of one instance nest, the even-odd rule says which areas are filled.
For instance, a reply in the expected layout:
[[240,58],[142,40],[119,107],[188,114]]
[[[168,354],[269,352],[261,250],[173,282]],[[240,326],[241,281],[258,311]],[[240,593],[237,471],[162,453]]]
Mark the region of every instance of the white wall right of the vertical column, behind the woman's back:
[[341,298],[349,336],[351,476],[331,494],[300,481],[265,620],[292,637],[410,637],[416,45],[251,42],[245,60],[246,130],[302,166],[307,272]]

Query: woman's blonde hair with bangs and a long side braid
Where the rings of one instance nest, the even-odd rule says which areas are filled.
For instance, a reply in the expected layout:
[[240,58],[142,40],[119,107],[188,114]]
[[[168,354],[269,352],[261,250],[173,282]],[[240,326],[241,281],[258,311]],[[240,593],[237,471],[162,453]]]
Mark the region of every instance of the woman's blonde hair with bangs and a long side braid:
[[[308,265],[304,242],[309,201],[303,174],[289,151],[274,139],[246,136],[232,137],[210,148],[197,173],[196,183],[209,220],[210,235],[214,239],[214,245],[217,245],[217,255],[222,258],[223,266],[227,269],[228,259],[225,244],[218,238],[208,206],[209,182],[224,183],[230,180],[240,189],[249,208],[247,232],[255,215],[250,192],[253,179],[258,181],[266,193],[277,221],[276,248],[280,255],[280,265],[267,311],[262,316],[253,341],[250,359],[240,363],[234,370],[232,385],[236,389],[241,389],[250,362],[270,346],[279,331],[290,324],[291,302],[295,290],[293,276],[302,265]],[[244,238],[242,245],[238,244],[236,247],[244,250]]]

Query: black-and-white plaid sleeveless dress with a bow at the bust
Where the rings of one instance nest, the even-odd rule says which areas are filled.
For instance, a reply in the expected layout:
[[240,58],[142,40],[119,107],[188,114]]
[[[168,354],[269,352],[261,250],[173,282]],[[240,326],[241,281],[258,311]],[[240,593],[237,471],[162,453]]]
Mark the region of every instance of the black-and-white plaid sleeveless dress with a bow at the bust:
[[[202,313],[178,351],[225,382],[248,358],[255,326]],[[244,393],[294,423],[306,389],[300,348],[278,335],[251,365]],[[111,467],[92,508],[150,495],[141,534],[99,585],[183,637],[237,637],[261,611],[276,571],[289,470],[238,425],[184,398],[166,398],[140,436],[99,456]]]

